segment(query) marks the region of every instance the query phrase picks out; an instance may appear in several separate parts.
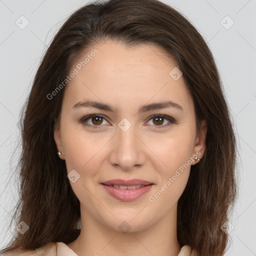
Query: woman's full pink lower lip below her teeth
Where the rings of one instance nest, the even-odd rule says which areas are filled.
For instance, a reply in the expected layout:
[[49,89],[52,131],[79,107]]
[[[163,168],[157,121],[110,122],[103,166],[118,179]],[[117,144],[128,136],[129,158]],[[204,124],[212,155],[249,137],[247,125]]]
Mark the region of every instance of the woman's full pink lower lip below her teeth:
[[132,201],[136,198],[140,197],[142,194],[146,193],[150,190],[153,184],[149,184],[146,186],[142,186],[135,189],[120,189],[114,186],[108,186],[102,184],[106,191],[112,195],[114,198],[122,200],[122,201]]

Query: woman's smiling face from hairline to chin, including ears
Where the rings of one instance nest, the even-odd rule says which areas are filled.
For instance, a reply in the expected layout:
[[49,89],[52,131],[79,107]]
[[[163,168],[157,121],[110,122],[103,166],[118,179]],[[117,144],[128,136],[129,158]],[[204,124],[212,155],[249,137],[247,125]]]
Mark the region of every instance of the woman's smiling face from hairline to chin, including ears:
[[194,157],[203,155],[206,124],[196,133],[184,79],[158,46],[106,41],[87,54],[81,70],[79,61],[72,67],[54,139],[81,215],[141,230],[173,216]]

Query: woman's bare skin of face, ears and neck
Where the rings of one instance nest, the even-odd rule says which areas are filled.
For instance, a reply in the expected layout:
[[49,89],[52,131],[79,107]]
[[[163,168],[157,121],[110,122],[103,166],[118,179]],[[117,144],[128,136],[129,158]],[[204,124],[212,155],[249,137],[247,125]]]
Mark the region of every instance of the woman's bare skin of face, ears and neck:
[[[201,158],[204,153],[206,123],[203,120],[196,133],[192,98],[183,77],[174,80],[169,75],[177,65],[161,48],[150,44],[127,48],[105,41],[88,52],[94,48],[99,52],[65,87],[60,122],[54,128],[59,157],[65,160],[67,172],[75,169],[80,175],[70,184],[80,201],[81,232],[67,245],[78,255],[176,256],[180,251],[177,201],[190,165],[197,163],[191,157]],[[87,99],[112,105],[116,112],[72,108]],[[170,107],[138,113],[141,105],[165,100],[179,104],[183,111]],[[79,121],[96,113],[105,119],[85,121],[96,128]],[[159,113],[176,123],[164,119],[158,124],[156,117],[149,118]],[[126,131],[118,126],[123,118],[131,124]],[[166,187],[166,181],[189,159],[189,167],[155,201],[149,201],[149,196],[164,183]],[[154,185],[133,201],[121,201],[101,185],[115,178],[139,178]],[[126,233],[118,228],[123,221],[130,226]]]

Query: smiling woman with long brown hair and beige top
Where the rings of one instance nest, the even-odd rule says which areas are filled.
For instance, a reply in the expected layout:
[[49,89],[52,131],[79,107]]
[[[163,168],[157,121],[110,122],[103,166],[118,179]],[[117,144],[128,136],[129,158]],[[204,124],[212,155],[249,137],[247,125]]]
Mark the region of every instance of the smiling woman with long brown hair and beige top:
[[22,118],[9,255],[223,255],[235,136],[212,54],[156,0],[62,25]]

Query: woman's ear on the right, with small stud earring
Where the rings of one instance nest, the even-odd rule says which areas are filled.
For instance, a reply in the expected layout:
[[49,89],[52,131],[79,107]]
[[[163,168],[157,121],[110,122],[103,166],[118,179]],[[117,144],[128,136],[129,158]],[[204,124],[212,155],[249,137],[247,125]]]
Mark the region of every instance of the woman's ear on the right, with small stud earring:
[[200,122],[200,127],[194,140],[194,150],[193,150],[193,156],[192,156],[193,163],[191,165],[198,162],[197,160],[195,160],[195,156],[201,159],[204,154],[206,133],[207,133],[207,123],[203,119]]

